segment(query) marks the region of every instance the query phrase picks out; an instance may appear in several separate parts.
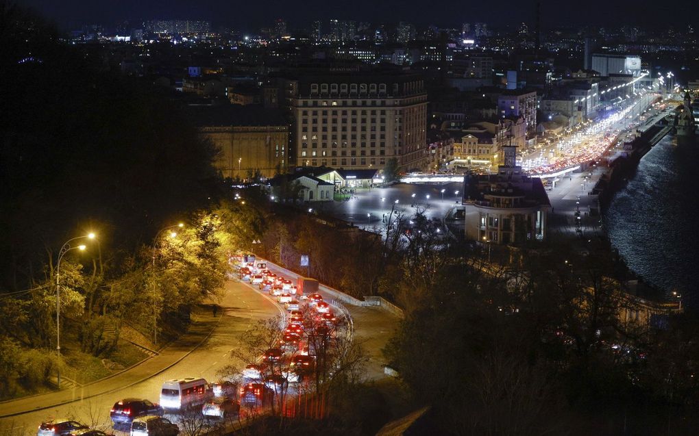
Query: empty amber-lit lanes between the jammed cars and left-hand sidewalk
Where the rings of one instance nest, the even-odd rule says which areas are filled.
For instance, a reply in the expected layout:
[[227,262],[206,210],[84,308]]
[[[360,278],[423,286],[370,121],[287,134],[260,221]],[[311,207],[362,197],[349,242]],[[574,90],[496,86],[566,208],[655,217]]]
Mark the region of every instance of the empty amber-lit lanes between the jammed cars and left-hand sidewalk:
[[[240,338],[255,322],[280,313],[277,305],[265,299],[243,283],[228,282],[219,302],[219,324],[203,345],[175,366],[153,375],[150,379],[75,403],[38,412],[29,412],[0,420],[0,435],[36,435],[37,426],[49,417],[71,416],[90,426],[110,429],[110,408],[118,400],[128,397],[147,398],[157,403],[162,383],[180,377],[204,377],[212,382],[217,370],[230,362],[229,352],[240,345]],[[121,434],[118,430],[116,434]]]

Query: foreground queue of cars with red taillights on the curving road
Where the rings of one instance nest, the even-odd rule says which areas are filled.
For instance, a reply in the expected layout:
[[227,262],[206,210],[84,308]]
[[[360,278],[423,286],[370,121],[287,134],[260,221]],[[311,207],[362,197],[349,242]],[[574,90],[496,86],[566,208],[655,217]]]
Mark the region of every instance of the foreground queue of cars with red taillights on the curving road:
[[[231,276],[258,292],[268,294],[283,308],[278,340],[240,374],[210,383],[201,377],[169,379],[163,382],[159,403],[143,398],[124,398],[110,409],[112,426],[105,433],[73,419],[50,419],[38,426],[38,436],[174,436],[184,421],[201,419],[211,428],[254,416],[283,400],[301,393],[315,374],[319,352],[338,335],[349,315],[324,301],[318,281],[298,277],[296,282],[268,269],[254,255],[231,257]],[[254,291],[253,291],[254,292]],[[184,421],[183,421],[184,420]],[[205,427],[206,428],[206,427]]]

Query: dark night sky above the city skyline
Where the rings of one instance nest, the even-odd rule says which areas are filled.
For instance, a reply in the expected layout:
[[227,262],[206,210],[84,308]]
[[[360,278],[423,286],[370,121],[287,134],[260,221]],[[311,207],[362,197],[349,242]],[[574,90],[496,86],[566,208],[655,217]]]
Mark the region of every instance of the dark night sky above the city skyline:
[[[18,3],[33,6],[64,29],[88,23],[109,25],[117,20],[201,18],[210,20],[215,27],[254,31],[273,26],[278,17],[287,21],[290,30],[308,26],[313,20],[330,18],[372,23],[404,20],[440,27],[482,21],[491,27],[500,27],[532,23],[535,10],[535,0],[498,0],[495,3],[463,0],[19,0]],[[691,22],[689,17],[696,17],[699,12],[699,2],[691,0],[673,2],[670,7],[649,0],[542,0],[541,3],[543,29],[570,24],[682,27]],[[696,22],[695,27],[699,27]]]

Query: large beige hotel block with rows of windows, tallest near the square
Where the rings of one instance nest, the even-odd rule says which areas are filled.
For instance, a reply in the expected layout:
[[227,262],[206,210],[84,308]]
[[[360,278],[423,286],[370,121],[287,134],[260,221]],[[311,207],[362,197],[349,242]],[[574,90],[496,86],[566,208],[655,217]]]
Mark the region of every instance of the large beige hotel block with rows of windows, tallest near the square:
[[426,165],[421,75],[324,70],[291,73],[277,83],[279,106],[294,120],[292,165],[371,168],[391,158],[405,170]]

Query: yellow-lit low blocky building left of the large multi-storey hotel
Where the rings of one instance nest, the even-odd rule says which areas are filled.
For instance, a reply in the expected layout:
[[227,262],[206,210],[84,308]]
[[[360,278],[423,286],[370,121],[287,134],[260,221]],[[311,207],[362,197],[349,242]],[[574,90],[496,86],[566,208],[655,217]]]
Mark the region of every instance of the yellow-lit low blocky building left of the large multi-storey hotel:
[[259,172],[272,177],[287,171],[289,123],[278,110],[261,105],[189,105],[187,114],[220,153],[222,176],[246,179]]

